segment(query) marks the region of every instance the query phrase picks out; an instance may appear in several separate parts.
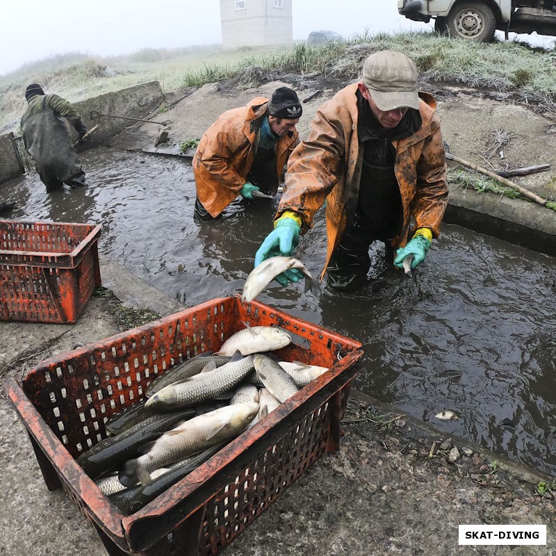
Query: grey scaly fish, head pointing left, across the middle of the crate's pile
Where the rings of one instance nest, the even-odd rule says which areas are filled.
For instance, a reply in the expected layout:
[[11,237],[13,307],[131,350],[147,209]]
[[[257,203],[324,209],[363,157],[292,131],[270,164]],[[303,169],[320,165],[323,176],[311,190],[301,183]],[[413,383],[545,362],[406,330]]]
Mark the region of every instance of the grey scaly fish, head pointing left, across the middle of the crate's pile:
[[145,408],[175,411],[177,407],[191,407],[218,398],[237,386],[252,370],[252,355],[242,357],[236,353],[221,367],[165,386],[147,400]]

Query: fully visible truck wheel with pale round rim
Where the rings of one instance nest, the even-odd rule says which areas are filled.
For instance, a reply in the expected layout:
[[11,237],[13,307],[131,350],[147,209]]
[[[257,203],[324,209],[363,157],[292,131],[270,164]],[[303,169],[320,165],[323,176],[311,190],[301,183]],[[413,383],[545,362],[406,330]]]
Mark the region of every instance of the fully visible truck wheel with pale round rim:
[[491,42],[496,31],[496,17],[484,3],[457,3],[446,17],[448,31],[455,38]]

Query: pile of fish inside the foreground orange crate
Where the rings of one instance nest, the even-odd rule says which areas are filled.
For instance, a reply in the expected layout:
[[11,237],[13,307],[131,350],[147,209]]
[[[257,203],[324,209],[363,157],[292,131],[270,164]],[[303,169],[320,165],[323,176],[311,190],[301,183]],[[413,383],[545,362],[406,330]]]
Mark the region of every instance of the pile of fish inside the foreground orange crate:
[[113,416],[106,423],[110,436],[77,458],[120,512],[137,512],[328,370],[277,361],[272,352],[291,343],[291,335],[245,326],[220,351],[154,379],[147,400]]

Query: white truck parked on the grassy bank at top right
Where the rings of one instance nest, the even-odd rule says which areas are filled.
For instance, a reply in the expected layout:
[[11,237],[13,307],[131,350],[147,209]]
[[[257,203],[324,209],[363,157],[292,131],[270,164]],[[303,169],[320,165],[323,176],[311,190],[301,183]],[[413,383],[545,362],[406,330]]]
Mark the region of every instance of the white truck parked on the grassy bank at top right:
[[556,35],[556,0],[398,0],[398,12],[416,22],[434,19],[437,33],[488,42],[496,29]]

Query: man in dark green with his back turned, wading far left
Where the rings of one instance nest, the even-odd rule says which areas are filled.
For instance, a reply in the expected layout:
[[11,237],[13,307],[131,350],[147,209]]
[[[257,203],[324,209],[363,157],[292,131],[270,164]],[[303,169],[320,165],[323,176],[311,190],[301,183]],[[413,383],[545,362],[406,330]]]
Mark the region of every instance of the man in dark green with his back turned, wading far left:
[[85,172],[70,143],[65,118],[85,142],[87,127],[74,106],[58,95],[45,95],[38,83],[25,90],[27,108],[22,116],[23,140],[47,191],[85,185]]

